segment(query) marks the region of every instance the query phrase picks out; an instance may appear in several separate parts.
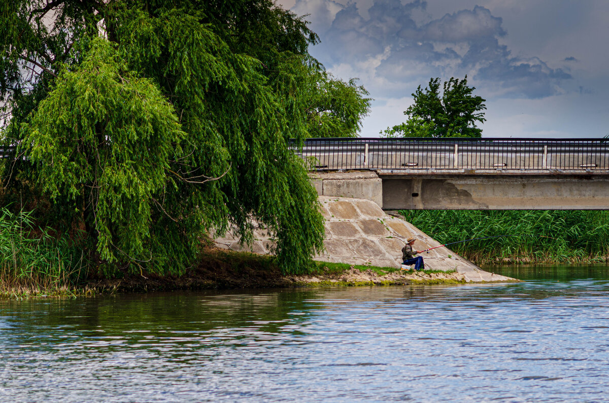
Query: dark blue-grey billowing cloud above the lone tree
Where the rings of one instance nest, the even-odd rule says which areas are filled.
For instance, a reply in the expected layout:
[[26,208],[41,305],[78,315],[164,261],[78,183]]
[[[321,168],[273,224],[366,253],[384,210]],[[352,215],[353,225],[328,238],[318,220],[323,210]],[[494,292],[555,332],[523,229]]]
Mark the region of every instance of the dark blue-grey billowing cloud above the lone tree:
[[[319,7],[324,0],[297,0],[297,6],[303,10],[312,1]],[[394,85],[384,89],[390,91],[387,96],[396,96],[413,81],[468,74],[478,85],[492,86],[504,95],[534,99],[557,93],[560,82],[571,79],[568,72],[538,58],[512,55],[499,43],[506,34],[502,19],[485,7],[417,23],[414,13],[425,8],[424,1],[376,0],[366,15],[357,2],[342,6],[322,36],[320,60],[330,66],[357,65],[383,55],[378,63],[368,63],[374,69],[368,75],[392,80]]]

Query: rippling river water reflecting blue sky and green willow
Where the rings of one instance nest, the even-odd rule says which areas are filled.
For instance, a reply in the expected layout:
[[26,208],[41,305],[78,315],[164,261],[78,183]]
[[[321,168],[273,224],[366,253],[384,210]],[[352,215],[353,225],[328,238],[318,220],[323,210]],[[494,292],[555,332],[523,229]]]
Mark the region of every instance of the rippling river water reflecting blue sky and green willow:
[[609,268],[0,301],[0,401],[606,401]]

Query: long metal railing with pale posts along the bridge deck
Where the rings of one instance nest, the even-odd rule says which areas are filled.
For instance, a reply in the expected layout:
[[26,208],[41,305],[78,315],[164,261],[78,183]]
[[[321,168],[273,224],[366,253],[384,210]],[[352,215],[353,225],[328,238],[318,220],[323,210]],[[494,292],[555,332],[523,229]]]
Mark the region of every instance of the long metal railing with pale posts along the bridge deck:
[[314,170],[609,171],[609,139],[307,139],[301,158]]

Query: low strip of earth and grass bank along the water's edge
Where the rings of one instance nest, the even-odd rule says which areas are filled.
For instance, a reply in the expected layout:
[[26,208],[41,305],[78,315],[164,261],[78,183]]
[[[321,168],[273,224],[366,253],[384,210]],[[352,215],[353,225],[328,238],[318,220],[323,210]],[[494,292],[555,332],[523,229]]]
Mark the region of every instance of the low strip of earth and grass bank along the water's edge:
[[[90,276],[72,287],[54,290],[40,287],[12,287],[0,290],[0,298],[31,298],[52,296],[94,296],[106,293],[154,292],[205,289],[258,289],[293,287],[353,286],[415,286],[432,284],[465,284],[466,273],[457,271],[404,271],[394,267],[348,265],[316,262],[308,275],[284,275],[270,256],[236,252],[216,247],[202,251],[199,264],[181,276],[160,276],[150,273],[125,275],[122,278]],[[492,275],[491,276],[495,276]],[[510,281],[496,276],[496,281]],[[480,281],[480,282],[492,282]],[[512,280],[513,281],[513,280]]]

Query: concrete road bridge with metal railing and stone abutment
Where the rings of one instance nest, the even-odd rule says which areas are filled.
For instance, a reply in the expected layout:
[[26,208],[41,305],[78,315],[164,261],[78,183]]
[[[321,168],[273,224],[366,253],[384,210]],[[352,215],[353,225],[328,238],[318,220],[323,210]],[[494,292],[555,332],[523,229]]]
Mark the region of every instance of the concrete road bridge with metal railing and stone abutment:
[[308,139],[320,194],[384,209],[609,209],[609,139]]

